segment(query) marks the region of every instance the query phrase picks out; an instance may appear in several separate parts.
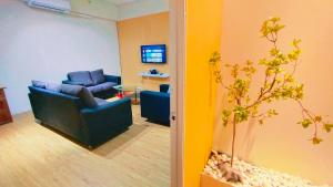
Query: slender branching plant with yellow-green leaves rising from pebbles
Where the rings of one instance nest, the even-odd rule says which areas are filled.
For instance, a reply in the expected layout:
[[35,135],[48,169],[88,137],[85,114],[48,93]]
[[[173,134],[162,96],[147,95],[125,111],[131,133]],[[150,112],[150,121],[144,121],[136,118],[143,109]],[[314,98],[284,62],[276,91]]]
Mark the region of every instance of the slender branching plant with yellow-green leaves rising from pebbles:
[[[263,124],[266,118],[276,116],[279,113],[275,108],[261,112],[262,105],[271,104],[281,100],[294,101],[301,108],[302,120],[299,122],[304,128],[313,127],[314,133],[311,137],[313,144],[320,144],[323,139],[319,136],[320,127],[325,132],[333,129],[333,124],[327,123],[323,116],[317,115],[302,104],[304,95],[304,85],[294,79],[301,54],[301,40],[292,41],[293,49],[289,53],[284,53],[278,46],[279,32],[285,27],[280,23],[280,18],[269,18],[261,28],[262,37],[272,44],[269,56],[259,60],[255,64],[248,61],[245,64],[222,63],[220,53],[213,53],[210,59],[212,72],[215,82],[226,90],[228,102],[231,108],[222,111],[223,125],[232,125],[232,154],[231,167],[234,159],[234,144],[236,136],[236,126],[239,123],[254,118],[259,124]],[[232,76],[231,83],[225,83],[222,79],[221,66],[230,70]],[[250,96],[250,89],[253,75],[258,72],[255,65],[263,66],[263,84],[260,86],[256,96]]]

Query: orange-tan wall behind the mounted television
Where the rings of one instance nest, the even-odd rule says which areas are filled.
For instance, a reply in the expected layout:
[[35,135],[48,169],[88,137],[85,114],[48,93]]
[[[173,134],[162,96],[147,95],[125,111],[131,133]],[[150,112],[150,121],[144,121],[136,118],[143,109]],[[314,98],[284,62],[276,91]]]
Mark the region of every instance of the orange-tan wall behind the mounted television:
[[143,64],[140,52],[140,46],[143,44],[167,44],[167,51],[169,51],[169,12],[119,21],[118,34],[121,75],[124,84],[159,90],[160,84],[169,82],[169,79],[142,79],[139,76],[140,72],[147,72],[150,69],[170,73],[170,62],[167,64]]

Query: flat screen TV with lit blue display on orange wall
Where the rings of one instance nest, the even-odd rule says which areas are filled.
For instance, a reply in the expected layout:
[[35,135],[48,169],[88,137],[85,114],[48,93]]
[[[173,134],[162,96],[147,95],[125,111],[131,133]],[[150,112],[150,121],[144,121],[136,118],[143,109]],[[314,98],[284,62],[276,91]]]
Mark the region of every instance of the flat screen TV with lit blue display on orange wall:
[[141,45],[141,61],[142,63],[167,63],[167,45]]

